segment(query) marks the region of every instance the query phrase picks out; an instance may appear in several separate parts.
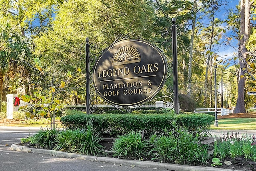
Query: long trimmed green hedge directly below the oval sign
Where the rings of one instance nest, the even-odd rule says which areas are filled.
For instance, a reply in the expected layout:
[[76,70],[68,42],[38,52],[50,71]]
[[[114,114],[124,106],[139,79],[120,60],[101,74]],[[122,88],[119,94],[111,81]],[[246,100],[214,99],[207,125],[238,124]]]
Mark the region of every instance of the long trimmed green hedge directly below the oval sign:
[[[110,135],[123,135],[130,131],[144,131],[146,135],[152,133],[162,133],[163,129],[170,129],[170,122],[174,120],[173,114],[92,114],[86,115],[77,111],[75,115],[61,117],[62,125],[68,129],[86,127],[86,120],[93,119],[93,127],[97,132],[109,133]],[[190,130],[206,129],[214,123],[214,117],[208,114],[178,114],[177,122],[183,121],[184,125]]]

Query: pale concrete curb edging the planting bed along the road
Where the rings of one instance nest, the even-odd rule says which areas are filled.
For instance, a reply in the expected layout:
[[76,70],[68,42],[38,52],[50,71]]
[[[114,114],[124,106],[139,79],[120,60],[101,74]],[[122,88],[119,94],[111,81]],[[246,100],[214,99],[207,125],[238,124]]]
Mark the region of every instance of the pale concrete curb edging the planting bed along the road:
[[12,144],[10,149],[14,151],[23,151],[27,153],[48,154],[53,156],[69,157],[69,158],[82,159],[82,160],[123,164],[123,165],[135,165],[140,167],[168,169],[173,171],[238,171],[234,169],[221,169],[221,168],[215,168],[215,167],[188,166],[188,165],[177,165],[177,164],[170,164],[170,163],[158,163],[154,161],[138,161],[138,160],[117,159],[117,158],[110,158],[110,157],[96,157],[96,156],[90,156],[90,155],[80,155],[76,153],[67,153],[67,152],[56,151],[56,150],[35,149],[35,148],[21,146],[18,144]]

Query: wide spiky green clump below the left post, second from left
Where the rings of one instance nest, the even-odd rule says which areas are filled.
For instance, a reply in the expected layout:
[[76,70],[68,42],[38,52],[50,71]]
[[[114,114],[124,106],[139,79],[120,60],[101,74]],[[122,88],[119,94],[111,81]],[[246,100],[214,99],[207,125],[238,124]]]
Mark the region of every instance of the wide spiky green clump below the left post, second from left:
[[95,133],[91,120],[87,122],[86,129],[61,131],[56,141],[55,150],[69,153],[96,155],[103,150],[103,146],[100,145],[102,137],[99,133]]

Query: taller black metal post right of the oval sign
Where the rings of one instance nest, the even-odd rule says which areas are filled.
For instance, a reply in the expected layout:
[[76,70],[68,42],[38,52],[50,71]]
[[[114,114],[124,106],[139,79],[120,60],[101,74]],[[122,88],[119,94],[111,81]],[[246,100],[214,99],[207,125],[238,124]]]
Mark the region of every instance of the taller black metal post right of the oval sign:
[[173,65],[173,101],[174,110],[179,113],[179,94],[178,94],[178,60],[177,60],[177,33],[176,19],[172,18],[172,65]]

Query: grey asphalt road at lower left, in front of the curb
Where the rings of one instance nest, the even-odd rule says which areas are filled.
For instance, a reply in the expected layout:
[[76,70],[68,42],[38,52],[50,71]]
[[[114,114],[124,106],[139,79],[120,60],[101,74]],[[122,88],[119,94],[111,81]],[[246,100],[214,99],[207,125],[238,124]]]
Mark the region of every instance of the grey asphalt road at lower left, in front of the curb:
[[0,127],[0,171],[167,171],[10,150],[12,144],[36,131],[38,128]]

